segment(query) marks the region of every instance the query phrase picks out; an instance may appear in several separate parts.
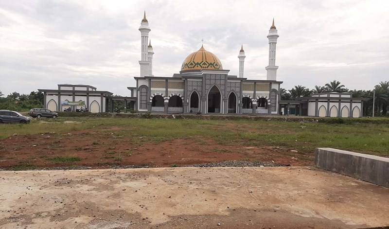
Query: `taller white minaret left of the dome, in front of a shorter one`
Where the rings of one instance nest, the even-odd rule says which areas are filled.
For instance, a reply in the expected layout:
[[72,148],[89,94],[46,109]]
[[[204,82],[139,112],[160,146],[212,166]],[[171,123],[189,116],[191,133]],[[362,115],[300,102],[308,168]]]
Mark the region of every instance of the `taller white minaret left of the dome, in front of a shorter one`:
[[141,60],[139,64],[141,65],[141,77],[149,75],[149,67],[150,63],[147,60],[148,55],[148,38],[149,32],[151,29],[149,28],[149,22],[146,19],[146,11],[144,11],[143,19],[141,22],[141,27],[139,27],[139,31],[141,31]]

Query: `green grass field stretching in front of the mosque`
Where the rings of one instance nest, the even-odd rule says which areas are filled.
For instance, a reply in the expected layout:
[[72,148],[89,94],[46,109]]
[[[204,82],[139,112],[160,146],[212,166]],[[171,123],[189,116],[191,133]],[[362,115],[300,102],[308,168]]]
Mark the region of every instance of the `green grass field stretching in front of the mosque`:
[[[332,147],[389,156],[389,125],[371,123],[69,117],[33,120],[30,124],[1,124],[0,139],[15,133],[18,136],[69,133],[95,127],[115,126],[120,127],[117,135],[130,138],[135,143],[136,141],[158,143],[201,137],[212,139],[220,145],[239,142],[240,145],[246,146],[283,146],[304,153],[313,153],[316,147]],[[138,140],[139,137],[145,139]]]

